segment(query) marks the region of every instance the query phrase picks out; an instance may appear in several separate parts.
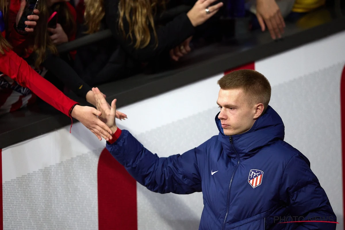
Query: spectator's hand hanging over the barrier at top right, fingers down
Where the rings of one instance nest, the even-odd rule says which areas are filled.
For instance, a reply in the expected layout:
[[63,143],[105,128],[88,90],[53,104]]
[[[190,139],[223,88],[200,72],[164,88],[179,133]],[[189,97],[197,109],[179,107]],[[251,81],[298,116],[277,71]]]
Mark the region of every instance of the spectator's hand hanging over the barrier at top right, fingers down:
[[257,0],[256,17],[262,31],[265,31],[266,23],[272,39],[282,37],[281,34],[284,33],[285,22],[275,0]]

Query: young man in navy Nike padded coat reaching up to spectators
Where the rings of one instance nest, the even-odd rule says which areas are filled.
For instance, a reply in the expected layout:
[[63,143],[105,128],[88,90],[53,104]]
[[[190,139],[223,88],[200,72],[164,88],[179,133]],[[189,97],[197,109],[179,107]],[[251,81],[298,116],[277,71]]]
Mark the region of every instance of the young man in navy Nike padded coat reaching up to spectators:
[[118,129],[116,100],[110,108],[93,89],[101,119],[114,133],[107,149],[151,191],[202,191],[199,229],[336,229],[336,216],[309,160],[283,141],[283,121],[268,106],[268,80],[254,70],[238,70],[218,84],[218,136],[167,158]]

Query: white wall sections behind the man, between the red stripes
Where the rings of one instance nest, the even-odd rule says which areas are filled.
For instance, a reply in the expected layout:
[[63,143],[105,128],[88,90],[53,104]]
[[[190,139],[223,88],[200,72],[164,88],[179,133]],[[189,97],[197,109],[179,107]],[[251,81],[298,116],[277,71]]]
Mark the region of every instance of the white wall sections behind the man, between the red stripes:
[[[337,229],[343,229],[339,97],[344,40],[341,32],[255,62],[272,85],[270,105],[283,118],[285,140],[311,161],[337,214]],[[118,125],[159,156],[183,153],[217,134],[216,81],[221,76],[120,108],[129,119]],[[65,127],[3,149],[4,229],[97,229],[97,164],[104,146],[78,123],[72,134]],[[138,229],[197,229],[202,202],[201,193],[162,195],[137,184]]]

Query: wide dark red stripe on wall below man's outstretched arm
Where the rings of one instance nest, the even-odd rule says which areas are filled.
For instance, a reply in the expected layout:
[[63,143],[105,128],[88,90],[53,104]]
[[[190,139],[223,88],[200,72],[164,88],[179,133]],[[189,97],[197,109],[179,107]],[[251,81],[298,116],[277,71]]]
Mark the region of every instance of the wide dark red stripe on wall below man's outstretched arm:
[[99,230],[137,230],[137,184],[107,149],[99,156]]

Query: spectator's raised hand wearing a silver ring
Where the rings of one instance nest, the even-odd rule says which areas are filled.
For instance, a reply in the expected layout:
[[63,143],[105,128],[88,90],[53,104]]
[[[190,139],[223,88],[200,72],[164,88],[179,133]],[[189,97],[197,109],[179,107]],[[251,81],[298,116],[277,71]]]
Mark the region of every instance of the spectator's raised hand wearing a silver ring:
[[187,16],[194,27],[203,24],[223,6],[223,2],[211,6],[215,1],[217,0],[198,0],[188,11]]

